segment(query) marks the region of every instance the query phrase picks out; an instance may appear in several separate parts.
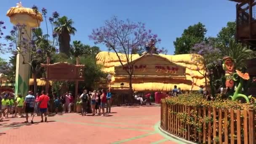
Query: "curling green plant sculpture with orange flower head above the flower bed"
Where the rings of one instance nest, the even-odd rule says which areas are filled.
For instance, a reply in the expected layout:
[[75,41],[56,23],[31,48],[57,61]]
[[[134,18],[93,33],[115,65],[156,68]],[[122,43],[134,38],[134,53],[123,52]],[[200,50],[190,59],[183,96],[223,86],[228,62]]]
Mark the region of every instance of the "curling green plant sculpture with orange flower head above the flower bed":
[[232,99],[232,101],[235,101],[239,97],[243,97],[246,100],[246,102],[249,103],[250,102],[249,99],[251,99],[251,96],[245,96],[244,94],[240,93],[243,88],[243,81],[250,79],[249,74],[248,73],[243,74],[239,70],[235,70],[235,71],[236,71],[236,73],[233,74],[232,80],[237,81],[238,78],[240,77],[240,82],[239,82],[233,96],[229,96],[229,97]]

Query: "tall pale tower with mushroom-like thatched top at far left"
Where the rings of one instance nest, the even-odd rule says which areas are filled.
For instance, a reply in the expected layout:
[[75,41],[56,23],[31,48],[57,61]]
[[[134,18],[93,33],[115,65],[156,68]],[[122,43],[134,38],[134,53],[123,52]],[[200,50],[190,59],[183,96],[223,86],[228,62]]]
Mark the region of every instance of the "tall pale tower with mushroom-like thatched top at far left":
[[[33,27],[39,27],[41,21],[43,21],[43,17],[40,13],[35,13],[31,8],[24,8],[21,5],[21,2],[17,3],[16,7],[11,7],[6,15],[10,17],[12,24],[26,26],[24,29],[25,32],[19,31],[18,36],[20,36],[21,33],[24,33],[22,36],[27,40],[30,40],[31,38],[31,29]],[[17,43],[28,43],[28,41],[19,38]],[[30,62],[30,52],[24,52],[26,50],[22,47],[18,47],[18,49],[21,53],[17,54],[16,60],[15,94],[21,93],[25,96],[29,89],[30,66],[28,64],[23,64],[23,61]],[[24,56],[24,59],[21,54]]]

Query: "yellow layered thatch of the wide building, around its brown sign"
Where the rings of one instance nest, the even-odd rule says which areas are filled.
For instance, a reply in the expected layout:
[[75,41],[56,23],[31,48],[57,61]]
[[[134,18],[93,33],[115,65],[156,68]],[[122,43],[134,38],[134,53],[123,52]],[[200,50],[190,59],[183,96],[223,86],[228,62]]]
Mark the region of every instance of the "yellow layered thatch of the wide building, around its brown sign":
[[[119,54],[121,56],[121,61],[126,62],[125,54]],[[182,54],[182,55],[164,55],[159,54],[158,56],[168,59],[174,64],[182,67],[186,67],[185,79],[178,79],[172,77],[156,76],[152,79],[144,78],[133,78],[133,91],[170,91],[174,85],[180,87],[182,90],[191,90],[192,81],[194,81],[193,90],[198,90],[200,85],[205,85],[205,80],[203,75],[197,71],[197,66],[195,61],[192,61],[192,54]],[[140,59],[138,54],[134,54],[132,60],[136,61]],[[114,75],[112,77],[111,87],[114,89],[127,89],[129,88],[129,83],[125,77],[115,76],[115,66],[120,66],[120,61],[116,53],[112,52],[100,52],[96,56],[98,64],[103,65],[103,71],[111,73]],[[198,67],[201,72],[203,72],[203,67]],[[126,79],[126,80],[125,80]],[[123,83],[123,85],[120,85]]]

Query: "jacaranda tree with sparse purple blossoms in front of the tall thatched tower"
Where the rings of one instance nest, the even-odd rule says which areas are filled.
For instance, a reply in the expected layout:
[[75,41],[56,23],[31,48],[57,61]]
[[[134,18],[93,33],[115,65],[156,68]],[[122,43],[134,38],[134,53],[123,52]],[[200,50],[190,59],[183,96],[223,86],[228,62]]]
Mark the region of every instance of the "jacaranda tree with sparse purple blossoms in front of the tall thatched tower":
[[[39,13],[37,6],[34,5],[32,9],[35,13]],[[46,63],[47,57],[50,57],[53,52],[57,51],[56,34],[53,32],[54,26],[52,26],[52,40],[50,41],[48,40],[50,38],[50,34],[48,32],[47,10],[43,8],[41,13],[46,24],[46,34],[43,34],[43,30],[40,28],[38,20],[38,27],[32,28],[32,37],[28,36],[28,33],[26,31],[26,25],[24,24],[17,24],[11,30],[10,35],[5,36],[5,40],[8,41],[8,45],[5,44],[5,51],[11,52],[14,55],[19,53],[20,56],[23,57],[23,64],[29,64],[29,66],[31,67],[32,74],[34,75],[35,92],[37,92],[37,75],[43,72],[40,64]],[[50,21],[52,25],[53,22],[54,20]],[[21,32],[20,35],[18,34],[18,32]],[[30,53],[30,61],[25,61],[24,56],[26,53]]]

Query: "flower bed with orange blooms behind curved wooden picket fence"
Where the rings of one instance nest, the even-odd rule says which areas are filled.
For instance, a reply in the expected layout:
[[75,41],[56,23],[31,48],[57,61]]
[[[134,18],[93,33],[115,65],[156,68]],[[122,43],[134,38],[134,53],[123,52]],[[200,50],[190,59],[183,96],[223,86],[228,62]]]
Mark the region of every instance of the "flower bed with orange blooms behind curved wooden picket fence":
[[255,109],[238,101],[207,101],[197,94],[162,99],[161,127],[200,144],[256,143]]

